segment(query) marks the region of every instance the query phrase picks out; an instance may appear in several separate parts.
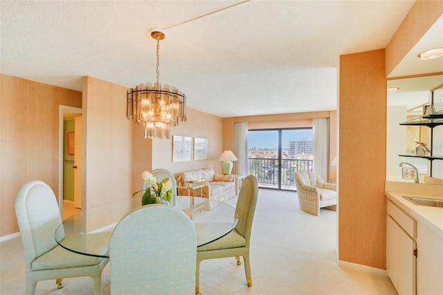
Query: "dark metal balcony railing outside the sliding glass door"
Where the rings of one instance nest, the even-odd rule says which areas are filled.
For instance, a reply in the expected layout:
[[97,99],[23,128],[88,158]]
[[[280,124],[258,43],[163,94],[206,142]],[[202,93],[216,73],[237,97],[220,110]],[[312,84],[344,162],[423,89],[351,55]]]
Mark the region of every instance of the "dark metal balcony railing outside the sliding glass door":
[[280,169],[278,159],[248,158],[248,173],[257,178],[260,187],[266,188],[278,188],[278,178],[281,173],[281,188],[296,190],[296,172],[312,171],[312,163],[311,159],[282,159]]

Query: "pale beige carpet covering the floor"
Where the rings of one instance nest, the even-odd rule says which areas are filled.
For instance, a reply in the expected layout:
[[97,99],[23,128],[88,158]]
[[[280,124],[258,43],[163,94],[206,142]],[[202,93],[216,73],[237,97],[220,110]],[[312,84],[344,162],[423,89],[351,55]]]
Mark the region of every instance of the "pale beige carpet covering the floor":
[[[201,294],[397,294],[386,276],[338,267],[336,213],[322,209],[316,217],[302,212],[296,193],[260,190],[251,240],[253,286],[246,286],[244,267],[235,258],[204,260]],[[1,242],[0,251],[0,294],[24,294],[20,238]],[[110,293],[109,265],[102,290]],[[93,294],[93,281],[64,279],[59,290],[55,280],[46,280],[37,284],[36,294]]]

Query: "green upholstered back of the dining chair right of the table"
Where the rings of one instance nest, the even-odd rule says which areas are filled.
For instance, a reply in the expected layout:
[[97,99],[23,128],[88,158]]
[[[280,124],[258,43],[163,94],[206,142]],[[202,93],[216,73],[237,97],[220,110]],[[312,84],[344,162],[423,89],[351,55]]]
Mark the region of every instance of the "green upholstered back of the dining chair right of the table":
[[239,214],[239,222],[235,229],[246,239],[246,246],[251,239],[252,222],[254,219],[255,206],[258,198],[258,184],[257,179],[252,175],[248,175],[242,181],[242,188],[237,200],[237,207],[235,210]]

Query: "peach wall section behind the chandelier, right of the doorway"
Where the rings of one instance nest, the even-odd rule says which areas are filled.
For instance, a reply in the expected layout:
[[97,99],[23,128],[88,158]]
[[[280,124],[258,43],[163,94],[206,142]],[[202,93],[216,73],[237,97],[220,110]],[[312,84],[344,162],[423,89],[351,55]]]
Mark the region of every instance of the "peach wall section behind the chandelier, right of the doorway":
[[150,141],[136,136],[136,125],[126,118],[126,92],[111,82],[84,78],[82,208],[132,197],[134,171],[150,162]]

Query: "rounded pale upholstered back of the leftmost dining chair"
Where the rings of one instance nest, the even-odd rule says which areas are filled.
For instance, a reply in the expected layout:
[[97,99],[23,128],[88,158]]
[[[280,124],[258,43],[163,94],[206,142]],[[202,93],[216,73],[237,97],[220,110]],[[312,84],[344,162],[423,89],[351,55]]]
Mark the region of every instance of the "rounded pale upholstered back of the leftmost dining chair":
[[43,181],[28,181],[15,198],[15,213],[24,244],[26,270],[35,258],[57,246],[54,232],[62,223],[53,190]]

